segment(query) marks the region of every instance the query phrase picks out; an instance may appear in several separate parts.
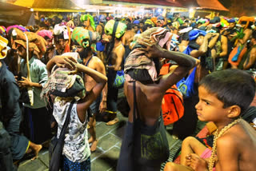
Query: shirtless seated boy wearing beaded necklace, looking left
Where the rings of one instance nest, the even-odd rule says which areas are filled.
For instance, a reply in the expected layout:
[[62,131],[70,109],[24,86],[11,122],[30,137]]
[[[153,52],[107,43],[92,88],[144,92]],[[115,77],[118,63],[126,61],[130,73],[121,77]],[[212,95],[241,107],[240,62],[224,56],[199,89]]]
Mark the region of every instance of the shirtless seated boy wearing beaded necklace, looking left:
[[218,128],[213,148],[187,137],[181,165],[168,162],[164,171],[255,170],[256,132],[241,118],[254,99],[254,79],[242,70],[216,71],[199,82],[198,94],[198,119],[213,121]]

